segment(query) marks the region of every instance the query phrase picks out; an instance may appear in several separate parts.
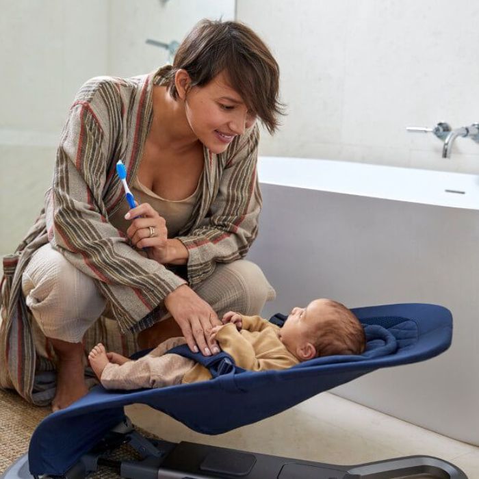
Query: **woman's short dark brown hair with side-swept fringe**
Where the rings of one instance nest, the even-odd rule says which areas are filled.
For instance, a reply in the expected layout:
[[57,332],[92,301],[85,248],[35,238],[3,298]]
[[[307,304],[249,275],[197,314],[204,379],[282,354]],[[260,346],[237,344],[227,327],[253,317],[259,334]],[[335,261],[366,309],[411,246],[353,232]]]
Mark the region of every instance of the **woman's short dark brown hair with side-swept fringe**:
[[181,42],[166,75],[175,100],[178,92],[174,76],[179,69],[190,75],[191,86],[205,86],[224,72],[250,112],[270,133],[276,131],[278,116],[284,114],[278,99],[279,66],[261,38],[243,23],[204,19],[194,26]]

